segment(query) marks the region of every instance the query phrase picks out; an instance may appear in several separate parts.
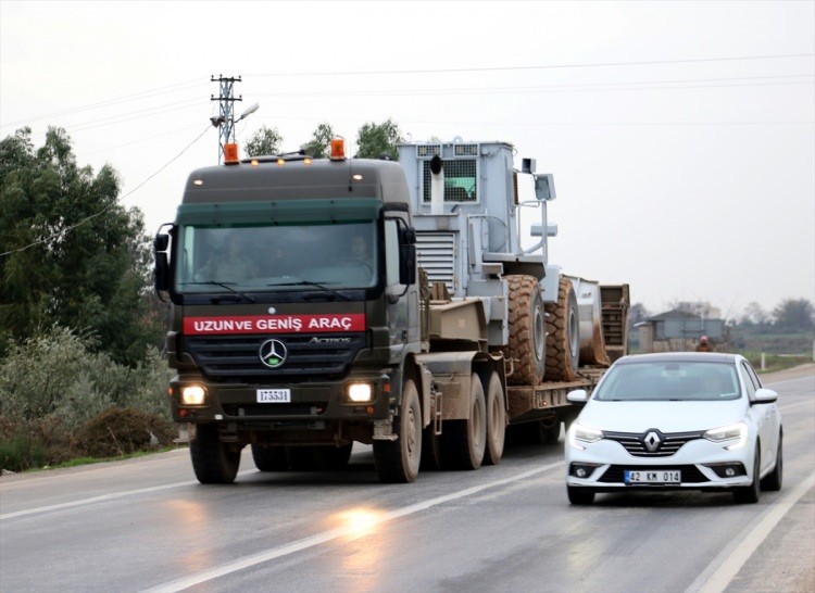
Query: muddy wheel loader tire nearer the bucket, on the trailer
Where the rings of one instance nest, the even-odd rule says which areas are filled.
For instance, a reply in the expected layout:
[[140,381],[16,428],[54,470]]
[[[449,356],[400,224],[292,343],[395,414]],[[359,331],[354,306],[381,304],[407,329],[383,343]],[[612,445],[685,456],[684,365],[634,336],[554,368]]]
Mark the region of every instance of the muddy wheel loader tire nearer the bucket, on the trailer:
[[574,381],[580,362],[580,318],[572,280],[561,278],[557,302],[547,303],[547,378]]

